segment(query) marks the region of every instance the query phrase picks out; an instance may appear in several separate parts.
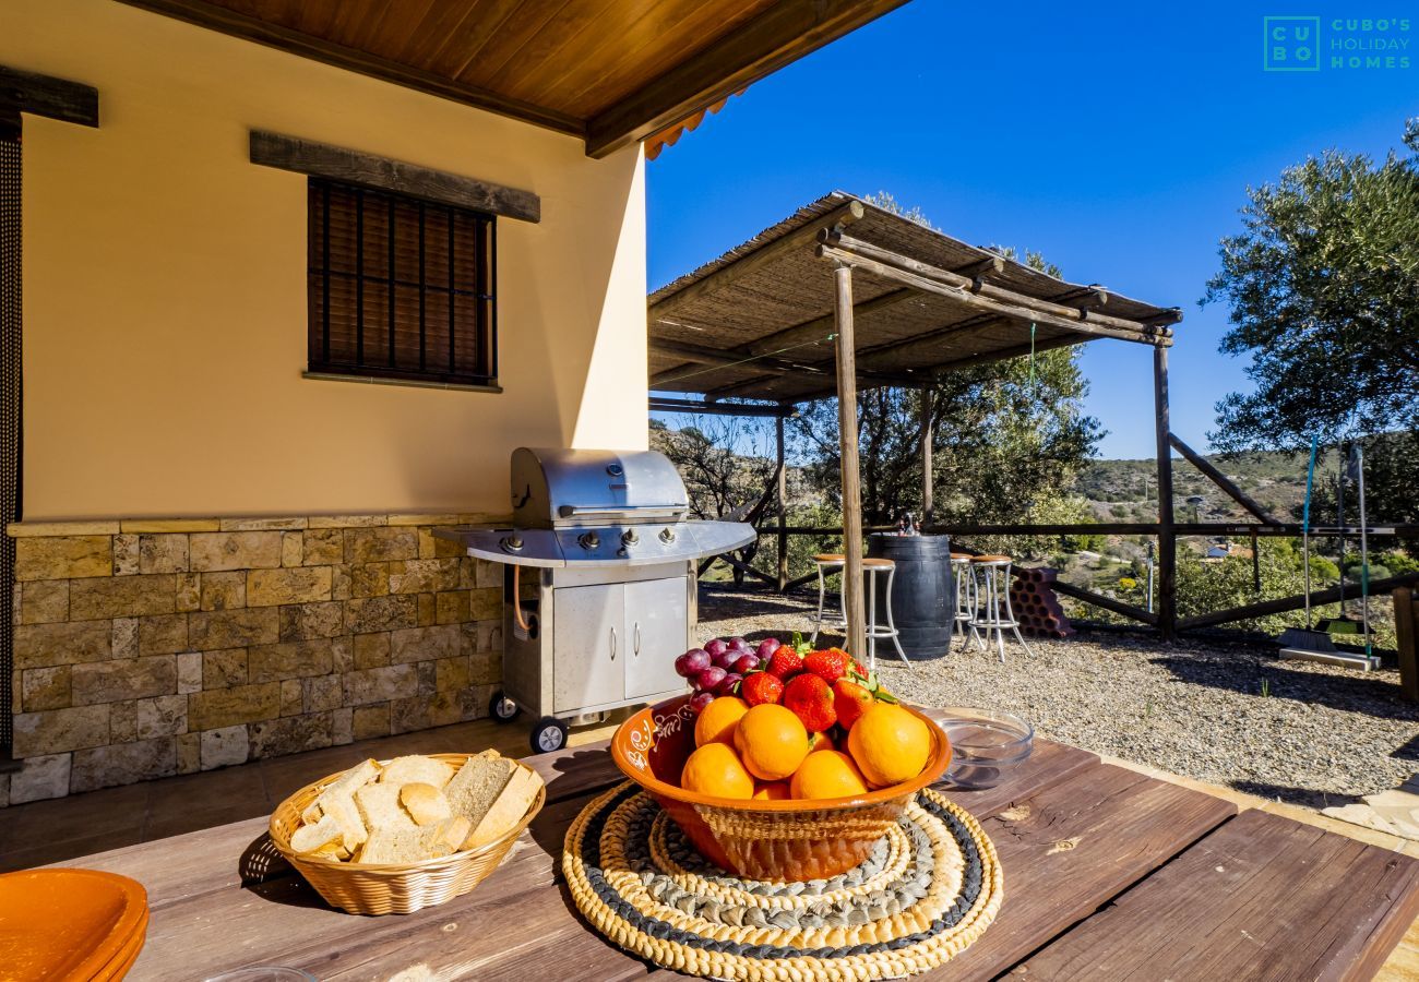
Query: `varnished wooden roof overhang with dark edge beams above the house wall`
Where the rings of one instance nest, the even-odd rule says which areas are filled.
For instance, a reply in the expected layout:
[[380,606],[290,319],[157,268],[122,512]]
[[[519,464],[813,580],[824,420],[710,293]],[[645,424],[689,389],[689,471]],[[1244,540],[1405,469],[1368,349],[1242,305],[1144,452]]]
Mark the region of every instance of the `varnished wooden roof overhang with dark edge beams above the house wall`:
[[905,0],[121,0],[490,109],[630,146]]

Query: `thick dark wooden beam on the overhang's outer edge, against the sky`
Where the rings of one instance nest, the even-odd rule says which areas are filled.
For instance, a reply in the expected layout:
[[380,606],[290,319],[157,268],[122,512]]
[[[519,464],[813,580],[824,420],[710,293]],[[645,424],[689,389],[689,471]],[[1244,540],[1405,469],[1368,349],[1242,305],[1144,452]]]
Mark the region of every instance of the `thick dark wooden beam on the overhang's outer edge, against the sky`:
[[780,0],[595,116],[586,152],[614,153],[739,92],[905,0]]

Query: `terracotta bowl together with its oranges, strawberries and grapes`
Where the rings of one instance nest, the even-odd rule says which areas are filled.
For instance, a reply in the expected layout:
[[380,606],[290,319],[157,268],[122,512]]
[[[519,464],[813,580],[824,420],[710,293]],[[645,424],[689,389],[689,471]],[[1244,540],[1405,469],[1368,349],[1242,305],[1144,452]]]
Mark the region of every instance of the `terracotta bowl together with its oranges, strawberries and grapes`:
[[612,756],[701,856],[741,877],[846,873],[951,762],[941,728],[837,649],[731,639],[677,667],[697,691],[626,719]]

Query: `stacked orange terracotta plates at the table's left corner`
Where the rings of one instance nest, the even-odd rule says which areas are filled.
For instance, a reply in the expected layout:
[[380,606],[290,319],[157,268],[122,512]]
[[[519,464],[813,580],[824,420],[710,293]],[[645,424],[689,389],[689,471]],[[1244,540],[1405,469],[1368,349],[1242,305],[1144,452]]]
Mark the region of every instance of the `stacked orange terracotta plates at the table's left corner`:
[[121,978],[146,924],[148,891],[128,877],[95,870],[0,876],[0,965],[7,979]]

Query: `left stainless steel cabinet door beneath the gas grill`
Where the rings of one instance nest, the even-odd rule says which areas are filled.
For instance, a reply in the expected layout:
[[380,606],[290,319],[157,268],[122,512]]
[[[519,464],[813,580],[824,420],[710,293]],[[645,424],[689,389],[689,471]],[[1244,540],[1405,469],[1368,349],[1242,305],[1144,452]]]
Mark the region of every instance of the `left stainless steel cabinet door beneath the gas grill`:
[[620,702],[624,685],[626,587],[563,586],[552,593],[553,712]]

